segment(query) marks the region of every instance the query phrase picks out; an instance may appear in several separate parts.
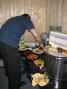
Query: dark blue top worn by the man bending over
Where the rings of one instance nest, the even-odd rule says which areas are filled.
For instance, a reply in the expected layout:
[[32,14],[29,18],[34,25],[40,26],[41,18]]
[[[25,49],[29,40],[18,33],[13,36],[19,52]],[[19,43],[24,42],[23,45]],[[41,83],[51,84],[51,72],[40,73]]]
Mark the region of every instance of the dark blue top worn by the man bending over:
[[18,47],[20,37],[31,28],[34,28],[32,21],[23,16],[10,18],[1,27],[0,42]]

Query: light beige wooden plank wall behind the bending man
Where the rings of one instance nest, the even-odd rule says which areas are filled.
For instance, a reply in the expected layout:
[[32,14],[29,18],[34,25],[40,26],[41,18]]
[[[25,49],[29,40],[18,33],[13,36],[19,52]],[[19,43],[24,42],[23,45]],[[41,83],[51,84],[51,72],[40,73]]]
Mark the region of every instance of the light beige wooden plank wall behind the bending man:
[[[67,32],[67,0],[0,0],[0,26],[23,13],[31,15],[38,34],[48,31],[50,25],[62,25],[63,32]],[[26,33],[25,38],[30,37]]]

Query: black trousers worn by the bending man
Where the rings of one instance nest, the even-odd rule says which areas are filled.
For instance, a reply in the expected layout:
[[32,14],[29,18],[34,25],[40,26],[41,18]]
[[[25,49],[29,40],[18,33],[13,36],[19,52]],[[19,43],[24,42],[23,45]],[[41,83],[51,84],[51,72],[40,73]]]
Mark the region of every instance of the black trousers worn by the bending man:
[[8,89],[19,89],[21,57],[18,50],[0,42],[0,55],[4,61],[5,73],[8,75]]

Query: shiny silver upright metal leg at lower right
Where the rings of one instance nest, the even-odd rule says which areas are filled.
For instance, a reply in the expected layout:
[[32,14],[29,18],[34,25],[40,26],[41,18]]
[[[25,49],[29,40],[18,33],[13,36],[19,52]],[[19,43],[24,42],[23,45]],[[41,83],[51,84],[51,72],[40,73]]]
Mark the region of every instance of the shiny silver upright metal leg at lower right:
[[61,88],[60,84],[61,84],[63,67],[64,67],[62,58],[58,57],[57,60],[58,60],[58,62],[57,62],[57,70],[56,70],[55,81],[54,81],[54,89]]

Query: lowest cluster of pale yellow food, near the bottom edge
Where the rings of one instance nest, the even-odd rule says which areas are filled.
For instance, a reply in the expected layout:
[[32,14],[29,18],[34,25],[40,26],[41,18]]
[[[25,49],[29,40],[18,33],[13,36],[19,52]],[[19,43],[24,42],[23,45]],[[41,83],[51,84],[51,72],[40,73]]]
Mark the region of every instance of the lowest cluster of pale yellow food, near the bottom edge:
[[46,74],[35,73],[32,75],[32,86],[46,86],[49,83],[49,78]]

